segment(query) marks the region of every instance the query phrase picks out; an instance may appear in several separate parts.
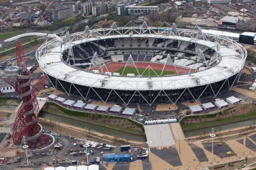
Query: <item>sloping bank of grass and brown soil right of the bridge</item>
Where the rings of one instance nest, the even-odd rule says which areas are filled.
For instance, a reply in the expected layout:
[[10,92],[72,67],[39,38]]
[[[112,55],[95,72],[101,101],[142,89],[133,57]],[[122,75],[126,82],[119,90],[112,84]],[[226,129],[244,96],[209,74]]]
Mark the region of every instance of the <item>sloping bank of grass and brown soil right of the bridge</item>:
[[[255,103],[248,103],[248,104],[255,104]],[[243,104],[246,106],[246,104]],[[239,106],[239,105],[236,105]],[[219,124],[225,124],[225,123],[231,123],[231,122],[236,122],[236,121],[242,121],[246,119],[252,119],[256,118],[256,112],[255,110],[252,110],[249,113],[242,114],[242,115],[235,115],[235,116],[225,116],[229,113],[230,110],[234,110],[236,106],[230,107],[225,109],[224,111],[220,111],[214,114],[204,114],[204,115],[193,115],[193,116],[185,116],[180,120],[181,127],[183,131],[188,131],[188,130],[194,130],[194,129],[200,129],[200,128],[205,128],[213,125],[219,125]],[[225,117],[223,117],[225,116]],[[210,120],[209,120],[210,119]],[[212,120],[215,119],[215,120]],[[187,123],[187,121],[190,122],[192,120],[197,121],[196,123]],[[200,121],[200,122],[198,122]]]

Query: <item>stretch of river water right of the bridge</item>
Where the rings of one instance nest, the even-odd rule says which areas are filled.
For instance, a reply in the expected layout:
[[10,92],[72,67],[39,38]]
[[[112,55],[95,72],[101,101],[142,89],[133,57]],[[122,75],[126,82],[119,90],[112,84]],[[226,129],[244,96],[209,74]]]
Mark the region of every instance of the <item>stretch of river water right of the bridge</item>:
[[253,124],[254,122],[256,122],[256,118],[249,119],[249,120],[243,120],[243,121],[239,121],[239,122],[233,122],[233,123],[211,126],[209,128],[201,128],[201,129],[197,129],[197,130],[186,131],[186,132],[184,132],[184,135],[185,135],[185,137],[191,137],[191,136],[198,136],[200,134],[205,134],[205,133],[210,134],[211,131],[212,131],[211,130],[212,127],[215,129],[215,132],[217,132],[217,131],[225,131],[225,130],[229,130],[229,129],[248,126],[250,124]]

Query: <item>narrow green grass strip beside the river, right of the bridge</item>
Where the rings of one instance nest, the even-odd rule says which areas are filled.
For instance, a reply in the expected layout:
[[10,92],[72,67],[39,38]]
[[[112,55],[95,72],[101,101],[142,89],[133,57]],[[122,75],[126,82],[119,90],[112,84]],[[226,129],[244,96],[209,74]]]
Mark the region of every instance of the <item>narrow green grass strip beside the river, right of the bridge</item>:
[[238,116],[231,116],[228,118],[221,118],[218,120],[212,120],[212,121],[206,121],[202,123],[193,123],[193,124],[188,124],[188,125],[182,125],[183,130],[188,130],[188,129],[194,129],[194,128],[203,128],[205,126],[209,125],[216,125],[216,124],[221,124],[221,123],[228,123],[228,122],[233,122],[233,121],[239,121],[243,119],[248,119],[248,118],[255,118],[255,113],[250,113],[250,114],[244,114],[244,115],[238,115]]

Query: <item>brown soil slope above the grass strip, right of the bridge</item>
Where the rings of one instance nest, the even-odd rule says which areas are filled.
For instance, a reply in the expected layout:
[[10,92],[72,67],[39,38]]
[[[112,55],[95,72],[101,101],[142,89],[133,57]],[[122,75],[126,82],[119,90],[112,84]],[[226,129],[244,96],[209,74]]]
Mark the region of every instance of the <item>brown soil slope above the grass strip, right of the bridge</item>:
[[[229,109],[223,115],[219,115],[215,118],[208,118],[207,121],[217,120],[217,119],[221,119],[221,118],[227,118],[227,117],[231,117],[231,116],[244,115],[244,114],[252,113],[254,111],[256,111],[255,104],[237,105],[237,106]],[[187,119],[186,124],[201,123],[201,122],[205,122],[205,121],[206,121],[205,119]]]

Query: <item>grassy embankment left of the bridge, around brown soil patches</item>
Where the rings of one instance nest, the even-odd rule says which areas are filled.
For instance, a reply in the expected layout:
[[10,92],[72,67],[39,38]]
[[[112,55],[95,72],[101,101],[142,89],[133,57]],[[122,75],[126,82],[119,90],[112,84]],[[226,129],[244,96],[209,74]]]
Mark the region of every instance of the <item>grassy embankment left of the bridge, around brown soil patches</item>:
[[[49,111],[47,109],[42,109],[43,112],[47,112],[47,113],[52,113],[52,114],[57,114],[59,116],[61,115],[66,115],[69,116],[70,118],[78,118],[81,121],[86,121],[87,123],[93,123],[93,124],[97,124],[100,126],[105,126],[108,128],[112,128],[112,129],[116,129],[116,130],[120,130],[120,131],[125,131],[125,132],[130,132],[130,133],[136,133],[136,134],[140,134],[140,135],[144,135],[144,133],[142,131],[144,131],[144,127],[143,124],[140,124],[136,121],[133,121],[129,118],[126,117],[121,117],[121,116],[113,116],[113,115],[106,115],[106,114],[98,114],[98,113],[90,113],[90,112],[82,112],[82,111],[75,111],[75,110],[71,110],[71,109],[67,109],[57,103],[54,102],[47,102],[46,105],[52,105],[57,107],[61,112],[53,112],[52,110]],[[105,122],[99,122],[97,120],[92,120],[91,118],[102,118],[102,119],[123,119],[123,120],[127,120],[129,122],[132,122],[133,124],[135,124],[136,126],[138,126],[139,128],[141,128],[142,131],[138,131],[138,130],[134,130],[134,129],[129,129],[126,127],[121,127],[121,126],[117,126],[117,125],[113,125],[110,123],[105,123]]]

